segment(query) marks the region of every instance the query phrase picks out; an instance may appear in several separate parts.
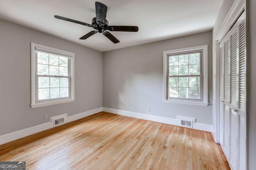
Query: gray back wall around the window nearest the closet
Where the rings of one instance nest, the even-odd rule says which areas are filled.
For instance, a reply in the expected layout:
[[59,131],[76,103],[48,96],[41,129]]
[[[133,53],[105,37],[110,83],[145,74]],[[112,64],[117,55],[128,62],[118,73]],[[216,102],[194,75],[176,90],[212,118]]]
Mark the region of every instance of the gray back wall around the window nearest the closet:
[[[212,125],[212,106],[163,102],[163,51],[208,44],[208,84],[212,93],[212,31],[103,53],[103,107],[176,119],[195,117]],[[150,112],[147,108],[150,107]]]

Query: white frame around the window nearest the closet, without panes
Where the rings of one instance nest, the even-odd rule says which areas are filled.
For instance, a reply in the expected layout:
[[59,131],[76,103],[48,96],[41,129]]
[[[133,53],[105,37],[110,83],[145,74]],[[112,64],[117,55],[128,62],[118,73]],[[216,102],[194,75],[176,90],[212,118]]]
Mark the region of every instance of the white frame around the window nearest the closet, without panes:
[[[202,84],[200,83],[200,88],[202,88],[202,99],[194,100],[188,98],[168,98],[168,56],[175,53],[188,53],[190,51],[202,50]],[[208,106],[208,45],[200,45],[196,47],[188,47],[183,49],[168,50],[163,52],[163,82],[164,82],[164,99],[165,103],[173,104],[187,104],[196,106]]]

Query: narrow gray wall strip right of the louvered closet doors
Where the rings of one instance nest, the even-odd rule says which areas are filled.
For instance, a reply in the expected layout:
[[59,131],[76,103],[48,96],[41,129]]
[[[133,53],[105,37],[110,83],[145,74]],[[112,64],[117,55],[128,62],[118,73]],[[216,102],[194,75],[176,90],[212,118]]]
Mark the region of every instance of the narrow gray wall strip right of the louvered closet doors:
[[[249,61],[248,61],[248,83],[249,88],[247,91],[247,123],[248,125],[248,156],[249,156],[249,168],[255,170],[256,167],[256,0],[246,1],[249,11]],[[248,18],[246,18],[248,19]]]

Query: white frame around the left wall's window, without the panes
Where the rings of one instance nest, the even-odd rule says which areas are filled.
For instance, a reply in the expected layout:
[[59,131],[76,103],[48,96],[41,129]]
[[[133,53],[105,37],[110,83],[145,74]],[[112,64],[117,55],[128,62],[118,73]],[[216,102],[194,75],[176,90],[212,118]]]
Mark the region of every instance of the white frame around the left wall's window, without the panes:
[[[36,83],[36,51],[45,51],[47,53],[55,54],[55,55],[60,55],[60,56],[66,56],[70,58],[70,83],[69,83],[69,90],[70,90],[70,96],[68,98],[58,98],[57,100],[43,100],[38,102],[37,101],[37,83]],[[67,102],[74,102],[75,100],[75,54],[60,50],[60,49],[55,49],[52,47],[47,47],[44,45],[39,45],[36,43],[31,43],[31,107],[42,107],[42,106],[50,106],[50,105],[55,105],[55,104],[62,104],[62,103],[67,103]]]

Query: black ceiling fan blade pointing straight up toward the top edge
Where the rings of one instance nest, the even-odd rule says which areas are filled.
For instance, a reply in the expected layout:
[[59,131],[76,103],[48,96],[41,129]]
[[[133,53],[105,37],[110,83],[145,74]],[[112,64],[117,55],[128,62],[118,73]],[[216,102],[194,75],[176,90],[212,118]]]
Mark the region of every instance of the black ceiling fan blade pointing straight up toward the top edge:
[[108,7],[100,2],[95,2],[96,22],[99,25],[105,25]]

